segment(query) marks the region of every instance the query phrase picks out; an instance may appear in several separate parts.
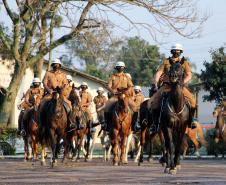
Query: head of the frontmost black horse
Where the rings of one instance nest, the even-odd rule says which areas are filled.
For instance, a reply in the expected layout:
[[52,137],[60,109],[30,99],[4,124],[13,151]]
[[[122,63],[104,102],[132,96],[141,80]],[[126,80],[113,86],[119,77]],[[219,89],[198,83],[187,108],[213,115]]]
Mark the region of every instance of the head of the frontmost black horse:
[[169,70],[169,81],[171,84],[178,84],[182,81],[183,70],[180,63],[175,63]]

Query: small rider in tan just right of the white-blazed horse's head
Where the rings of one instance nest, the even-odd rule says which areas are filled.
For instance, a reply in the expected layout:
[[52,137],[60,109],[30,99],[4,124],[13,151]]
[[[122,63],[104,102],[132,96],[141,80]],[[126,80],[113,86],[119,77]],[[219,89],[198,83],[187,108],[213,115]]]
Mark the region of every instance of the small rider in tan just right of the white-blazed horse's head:
[[[82,111],[84,111],[87,116],[88,116],[88,120],[89,120],[89,127],[92,128],[92,122],[93,122],[93,117],[90,111],[90,105],[92,103],[92,95],[87,91],[88,89],[88,84],[86,82],[82,82],[81,86],[81,91],[80,91],[80,97],[81,97],[81,108]],[[81,127],[82,125],[80,125]]]

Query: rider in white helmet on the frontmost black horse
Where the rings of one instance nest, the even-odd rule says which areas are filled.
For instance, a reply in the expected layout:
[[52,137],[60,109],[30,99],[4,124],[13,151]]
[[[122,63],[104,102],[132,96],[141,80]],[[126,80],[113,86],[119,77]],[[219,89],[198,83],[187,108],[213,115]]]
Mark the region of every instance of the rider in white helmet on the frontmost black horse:
[[[184,78],[183,78],[183,84],[188,84],[188,82],[192,78],[192,72],[189,65],[189,62],[184,58],[180,57],[181,53],[183,53],[183,47],[181,44],[175,44],[171,47],[171,54],[172,56],[165,59],[163,63],[158,68],[155,78],[154,78],[154,84],[152,84],[152,87],[157,91],[151,98],[151,109],[153,112],[156,110],[160,110],[162,95],[164,92],[170,91],[170,86],[168,84],[169,82],[169,76],[168,72],[171,67],[171,65],[175,63],[180,63],[183,71],[184,71]],[[160,80],[161,79],[161,80]],[[158,89],[159,87],[159,89]],[[197,119],[194,118],[195,110],[196,110],[196,100],[193,97],[192,93],[188,90],[187,87],[183,87],[183,94],[185,98],[190,103],[190,116],[191,116],[191,123],[188,125],[189,128],[196,128]],[[157,128],[158,124],[156,123]],[[156,131],[155,125],[153,125],[152,131]]]

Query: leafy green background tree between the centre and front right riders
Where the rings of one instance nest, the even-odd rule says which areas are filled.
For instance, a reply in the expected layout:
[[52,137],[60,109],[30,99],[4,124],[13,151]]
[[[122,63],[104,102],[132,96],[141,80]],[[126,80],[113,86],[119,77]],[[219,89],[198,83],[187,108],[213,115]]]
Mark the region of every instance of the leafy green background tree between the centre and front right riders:
[[150,86],[153,82],[162,59],[157,46],[139,37],[126,39],[119,56],[119,60],[125,62],[126,72],[131,74],[134,84],[142,86]]

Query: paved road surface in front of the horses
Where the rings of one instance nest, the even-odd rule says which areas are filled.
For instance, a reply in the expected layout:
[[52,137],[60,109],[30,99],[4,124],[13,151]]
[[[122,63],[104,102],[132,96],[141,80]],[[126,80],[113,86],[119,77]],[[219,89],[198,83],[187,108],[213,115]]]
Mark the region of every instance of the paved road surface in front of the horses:
[[226,160],[184,160],[176,175],[163,173],[157,161],[142,166],[132,161],[125,166],[111,166],[110,162],[58,163],[54,169],[39,162],[21,159],[0,160],[0,184],[226,184]]

